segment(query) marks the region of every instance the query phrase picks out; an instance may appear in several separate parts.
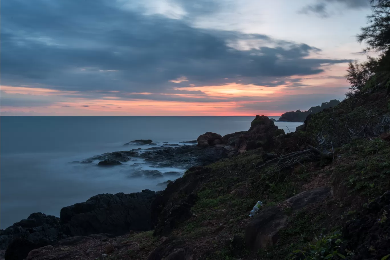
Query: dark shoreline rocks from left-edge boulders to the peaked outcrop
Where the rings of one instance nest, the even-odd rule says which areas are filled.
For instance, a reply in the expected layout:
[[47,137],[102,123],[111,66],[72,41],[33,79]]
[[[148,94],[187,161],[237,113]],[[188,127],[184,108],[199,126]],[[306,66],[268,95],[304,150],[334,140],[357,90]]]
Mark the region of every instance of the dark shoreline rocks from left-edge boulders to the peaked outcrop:
[[[172,167],[188,169],[194,166],[205,166],[214,163],[224,157],[232,157],[242,154],[246,150],[259,147],[266,149],[275,138],[284,135],[282,129],[275,126],[273,120],[265,116],[257,115],[248,131],[236,132],[221,136],[207,132],[200,135],[197,140],[182,142],[180,145],[158,143],[152,140],[134,140],[125,143],[150,145],[151,147],[123,150],[90,157],[82,164],[97,163],[101,167],[121,167],[121,164],[141,159],[155,168]],[[193,143],[197,144],[193,144]],[[137,167],[137,162],[130,166]],[[179,172],[161,173],[158,170],[142,170],[135,168],[129,177],[159,178],[172,176],[176,179]],[[161,183],[165,187],[172,181]],[[118,236],[129,232],[147,231],[156,225],[152,214],[151,204],[161,192],[143,190],[139,193],[100,194],[91,197],[86,202],[61,209],[60,218],[47,216],[37,212],[28,216],[14,225],[0,231],[1,249],[5,252],[6,259],[23,259],[26,252],[42,246],[55,246],[66,241],[72,241],[71,237],[88,236],[98,233],[106,233],[108,236]],[[69,243],[69,242],[68,242]],[[25,248],[25,250],[23,249]],[[15,252],[25,252],[24,257]],[[27,252],[28,253],[28,252]],[[14,256],[12,256],[14,255]]]

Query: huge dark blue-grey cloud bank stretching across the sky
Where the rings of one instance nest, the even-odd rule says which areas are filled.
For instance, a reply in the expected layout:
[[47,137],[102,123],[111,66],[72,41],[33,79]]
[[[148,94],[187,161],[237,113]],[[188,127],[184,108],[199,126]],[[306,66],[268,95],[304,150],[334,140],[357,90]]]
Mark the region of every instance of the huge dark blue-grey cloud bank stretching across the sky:
[[[208,2],[181,4],[201,12],[211,8]],[[225,84],[224,78],[260,85],[264,77],[317,74],[321,64],[346,62],[308,58],[320,50],[307,44],[193,28],[181,19],[143,15],[115,3],[3,1],[2,84],[161,93],[192,83]],[[232,47],[249,39],[258,46]],[[183,76],[188,81],[170,82]]]

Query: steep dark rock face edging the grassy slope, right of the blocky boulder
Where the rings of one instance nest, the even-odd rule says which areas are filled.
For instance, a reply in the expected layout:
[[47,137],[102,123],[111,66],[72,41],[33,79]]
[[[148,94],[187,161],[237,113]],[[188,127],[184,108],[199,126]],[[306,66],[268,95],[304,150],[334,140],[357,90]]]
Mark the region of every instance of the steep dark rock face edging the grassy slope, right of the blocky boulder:
[[[152,228],[155,235],[168,235],[172,228],[191,217],[190,209],[197,201],[196,191],[207,181],[210,169],[193,167],[169,184],[152,202]],[[181,199],[177,199],[181,198]]]

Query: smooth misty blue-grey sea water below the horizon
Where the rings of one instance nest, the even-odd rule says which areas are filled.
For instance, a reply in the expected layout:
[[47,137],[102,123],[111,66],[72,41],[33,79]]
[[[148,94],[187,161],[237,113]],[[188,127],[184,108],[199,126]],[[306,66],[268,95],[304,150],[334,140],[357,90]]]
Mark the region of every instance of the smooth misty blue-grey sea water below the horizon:
[[[270,117],[278,119],[278,117]],[[0,227],[33,212],[59,216],[62,207],[101,193],[159,190],[162,179],[128,178],[120,168],[72,164],[151,139],[179,143],[207,131],[246,131],[254,117],[0,117]],[[301,123],[275,122],[295,131]],[[141,147],[144,148],[144,147]],[[142,161],[140,161],[142,163]],[[148,164],[143,169],[154,170]],[[161,172],[183,169],[159,168]]]

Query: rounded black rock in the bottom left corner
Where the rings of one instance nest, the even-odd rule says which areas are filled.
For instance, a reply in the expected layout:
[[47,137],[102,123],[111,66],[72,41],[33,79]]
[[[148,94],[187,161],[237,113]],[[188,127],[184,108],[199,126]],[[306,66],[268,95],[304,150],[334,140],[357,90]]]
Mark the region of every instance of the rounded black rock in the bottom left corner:
[[31,250],[47,246],[47,241],[32,242],[27,239],[14,239],[5,250],[5,260],[22,260],[27,257]]

